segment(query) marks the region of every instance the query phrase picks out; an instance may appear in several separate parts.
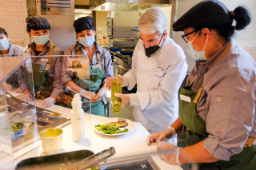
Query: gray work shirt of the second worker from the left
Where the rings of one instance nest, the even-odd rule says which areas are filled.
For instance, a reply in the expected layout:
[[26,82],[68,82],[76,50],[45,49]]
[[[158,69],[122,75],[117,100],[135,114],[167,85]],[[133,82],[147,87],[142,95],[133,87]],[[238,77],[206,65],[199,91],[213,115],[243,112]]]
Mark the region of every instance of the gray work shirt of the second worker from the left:
[[[37,57],[31,57],[32,63],[39,64],[39,65],[46,65],[47,61],[45,61],[45,60],[48,59],[49,48],[50,48],[50,41],[47,42],[46,48],[43,49],[42,52],[39,53],[39,55]],[[35,49],[34,42],[32,42],[30,45],[26,46],[23,49],[22,53],[29,53],[30,49],[32,49],[31,56],[36,56],[36,53],[34,52],[34,49]],[[54,89],[51,93],[51,96],[53,96],[53,97],[59,97],[62,94],[62,83],[61,83],[62,57],[54,57],[54,56],[63,55],[63,53],[64,53],[64,51],[61,48],[59,48],[57,45],[54,45],[53,53],[52,53],[53,58],[51,61],[50,73],[49,73],[49,75],[51,77],[54,77],[54,84],[53,84]],[[44,61],[42,61],[42,59]],[[19,73],[18,84],[20,85],[21,90],[23,92],[24,90],[28,89],[28,87],[26,85],[26,81],[24,79],[23,67],[18,69],[18,73]]]

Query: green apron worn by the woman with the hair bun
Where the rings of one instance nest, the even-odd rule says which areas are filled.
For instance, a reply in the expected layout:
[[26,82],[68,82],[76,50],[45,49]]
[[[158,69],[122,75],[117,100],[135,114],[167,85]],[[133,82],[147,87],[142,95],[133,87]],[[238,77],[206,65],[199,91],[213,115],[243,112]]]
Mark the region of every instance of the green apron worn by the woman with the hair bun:
[[[226,56],[226,53],[229,53],[231,50],[231,43],[222,53],[222,56],[219,57],[218,61],[221,61],[223,57]],[[216,62],[216,64],[218,63]],[[195,76],[196,77],[196,76]],[[194,79],[195,79],[194,77]],[[202,88],[198,90],[198,93],[193,92],[191,86],[194,82],[191,81],[189,86],[182,87],[181,95],[190,97],[192,102],[182,101],[179,99],[179,117],[182,121],[182,124],[186,127],[185,129],[185,142],[186,146],[191,146],[198,144],[202,140],[205,140],[208,136],[206,132],[206,121],[203,121],[201,117],[196,113],[196,105],[198,103],[199,97],[202,94]],[[237,155],[230,156],[230,160],[219,160],[214,163],[202,163],[198,164],[200,170],[253,170],[256,169],[256,144],[252,147],[243,148],[242,152]]]

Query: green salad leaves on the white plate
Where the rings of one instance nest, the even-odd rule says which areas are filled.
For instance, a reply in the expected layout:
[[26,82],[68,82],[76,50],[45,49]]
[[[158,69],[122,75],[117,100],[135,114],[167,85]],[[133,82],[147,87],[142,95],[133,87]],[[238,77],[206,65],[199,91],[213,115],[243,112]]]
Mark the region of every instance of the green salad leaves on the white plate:
[[122,132],[128,132],[128,128],[121,130],[120,127],[116,125],[95,125],[95,128],[105,134],[118,134]]

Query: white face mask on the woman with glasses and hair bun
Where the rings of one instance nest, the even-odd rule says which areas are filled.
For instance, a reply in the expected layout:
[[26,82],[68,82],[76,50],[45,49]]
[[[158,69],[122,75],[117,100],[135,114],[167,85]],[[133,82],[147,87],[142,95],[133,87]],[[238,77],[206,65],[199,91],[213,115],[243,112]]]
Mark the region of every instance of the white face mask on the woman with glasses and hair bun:
[[[200,32],[201,32],[201,30],[198,32],[198,34]],[[198,34],[194,38],[196,38],[198,36]],[[194,41],[194,39],[192,40],[192,42],[193,41]],[[195,50],[192,45],[192,42],[188,42],[188,44],[186,46],[186,51],[187,51],[187,53],[190,54],[190,57],[192,57],[194,60],[206,60],[206,55],[205,55],[205,52],[203,51],[203,49],[205,49],[208,39],[206,41],[206,44],[203,46],[202,51]]]

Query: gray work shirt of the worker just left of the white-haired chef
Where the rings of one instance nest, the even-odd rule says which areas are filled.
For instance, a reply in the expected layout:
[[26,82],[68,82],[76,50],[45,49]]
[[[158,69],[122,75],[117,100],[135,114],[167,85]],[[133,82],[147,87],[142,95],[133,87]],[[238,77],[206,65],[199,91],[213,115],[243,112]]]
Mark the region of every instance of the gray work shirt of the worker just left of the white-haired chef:
[[[101,55],[102,65],[103,65],[104,70],[105,70],[105,76],[102,80],[102,84],[104,84],[104,80],[106,78],[114,77],[114,69],[113,69],[113,65],[112,65],[112,59],[111,59],[110,52],[108,52],[106,49],[103,49],[102,47],[100,47],[96,41],[94,42],[94,44],[96,45],[96,52],[99,51],[99,53]],[[85,54],[86,57],[88,57],[87,54],[86,54],[86,50],[82,48],[82,45],[80,43],[67,48],[64,55],[76,55],[76,52],[79,49],[82,49],[81,54]],[[94,57],[93,57],[92,62],[90,64],[93,64],[93,65],[98,64],[96,53],[94,53]],[[69,73],[66,73],[65,70],[67,70],[67,57],[64,57],[63,61],[62,61],[62,84],[63,85],[67,81],[72,81],[71,75]]]

